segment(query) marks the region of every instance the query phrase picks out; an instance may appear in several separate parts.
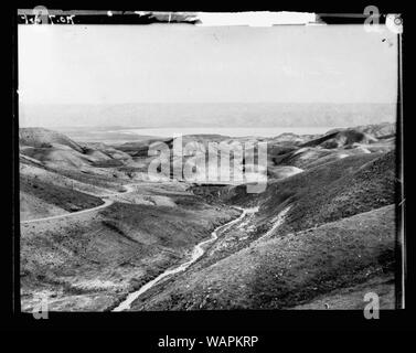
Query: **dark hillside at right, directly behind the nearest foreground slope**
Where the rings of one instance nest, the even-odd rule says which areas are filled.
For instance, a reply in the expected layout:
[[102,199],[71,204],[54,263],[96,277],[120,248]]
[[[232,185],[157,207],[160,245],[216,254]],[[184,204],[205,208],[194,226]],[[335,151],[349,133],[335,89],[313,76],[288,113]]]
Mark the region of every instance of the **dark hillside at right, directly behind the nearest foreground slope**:
[[299,231],[395,202],[395,152],[364,153],[269,182],[260,194],[244,186],[222,191],[232,204],[260,205],[267,222],[290,205],[281,233]]

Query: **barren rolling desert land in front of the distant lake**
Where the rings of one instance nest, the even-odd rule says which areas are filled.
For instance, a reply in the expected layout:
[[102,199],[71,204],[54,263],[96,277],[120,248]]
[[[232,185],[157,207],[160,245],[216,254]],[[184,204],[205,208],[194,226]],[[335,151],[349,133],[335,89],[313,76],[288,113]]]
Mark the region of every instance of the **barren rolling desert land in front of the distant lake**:
[[209,142],[267,142],[267,163],[243,159],[267,176],[259,193],[149,180],[150,146],[172,168],[190,158],[169,138],[81,137],[20,129],[22,311],[42,296],[51,311],[362,309],[369,291],[395,307],[394,124],[183,137],[200,157],[221,153]]

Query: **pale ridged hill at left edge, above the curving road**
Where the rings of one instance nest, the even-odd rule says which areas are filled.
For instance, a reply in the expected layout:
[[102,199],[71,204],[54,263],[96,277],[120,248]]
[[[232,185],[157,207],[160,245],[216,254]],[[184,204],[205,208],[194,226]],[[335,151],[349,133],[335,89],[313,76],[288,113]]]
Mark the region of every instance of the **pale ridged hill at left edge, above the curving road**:
[[124,190],[126,174],[110,168],[130,160],[122,151],[42,128],[20,129],[19,137],[22,221],[90,208]]

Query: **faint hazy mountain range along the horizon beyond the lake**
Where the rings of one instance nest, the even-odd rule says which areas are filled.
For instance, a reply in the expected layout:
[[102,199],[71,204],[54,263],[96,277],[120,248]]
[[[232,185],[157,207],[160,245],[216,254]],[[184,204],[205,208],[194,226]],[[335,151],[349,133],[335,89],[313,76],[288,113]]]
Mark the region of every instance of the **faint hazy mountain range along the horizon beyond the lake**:
[[395,121],[392,104],[21,105],[20,126],[348,127]]

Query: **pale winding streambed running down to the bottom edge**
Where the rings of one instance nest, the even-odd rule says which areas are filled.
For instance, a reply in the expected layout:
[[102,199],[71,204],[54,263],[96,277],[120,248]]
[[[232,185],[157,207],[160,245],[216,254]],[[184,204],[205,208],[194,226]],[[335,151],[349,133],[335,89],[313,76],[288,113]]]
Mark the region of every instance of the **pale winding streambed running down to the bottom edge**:
[[201,242],[198,245],[195,245],[195,247],[194,247],[194,249],[192,252],[192,255],[191,255],[191,259],[189,261],[183,263],[182,265],[179,265],[178,267],[174,267],[174,268],[166,270],[164,272],[160,274],[158,277],[156,277],[151,281],[149,281],[146,285],[143,285],[142,287],[140,287],[139,290],[136,290],[136,291],[129,293],[127,296],[126,300],[121,301],[118,304],[118,307],[116,307],[115,309],[113,309],[113,311],[125,311],[125,310],[130,309],[131,303],[140,295],[142,295],[143,292],[148,291],[154,285],[157,285],[158,282],[160,282],[163,278],[167,278],[169,276],[182,272],[188,267],[190,267],[193,263],[195,263],[205,253],[204,246],[206,244],[210,244],[210,243],[213,243],[214,240],[216,240],[216,238],[218,237],[218,232],[225,231],[225,229],[232,227],[234,224],[236,224],[239,221],[242,221],[247,214],[249,214],[249,213],[256,213],[258,211],[258,207],[254,207],[254,208],[241,208],[241,207],[234,206],[234,208],[243,211],[242,214],[237,218],[235,218],[235,220],[233,220],[233,221],[231,221],[231,222],[228,222],[226,224],[223,224],[223,225],[216,227],[214,229],[214,232],[211,233],[211,238],[209,238],[207,240]]

